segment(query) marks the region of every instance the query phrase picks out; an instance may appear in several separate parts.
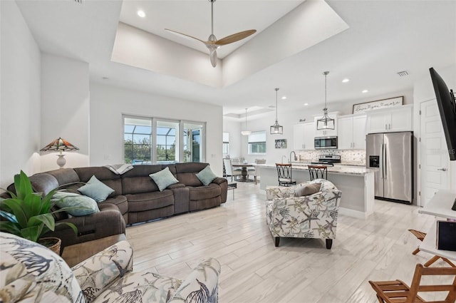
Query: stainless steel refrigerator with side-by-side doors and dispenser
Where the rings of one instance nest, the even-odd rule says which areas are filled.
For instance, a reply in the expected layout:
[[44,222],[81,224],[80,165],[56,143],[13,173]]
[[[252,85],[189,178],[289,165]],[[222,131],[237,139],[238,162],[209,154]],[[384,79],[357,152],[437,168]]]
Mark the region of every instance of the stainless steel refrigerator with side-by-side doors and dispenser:
[[366,166],[375,172],[375,197],[413,201],[413,132],[366,135]]

